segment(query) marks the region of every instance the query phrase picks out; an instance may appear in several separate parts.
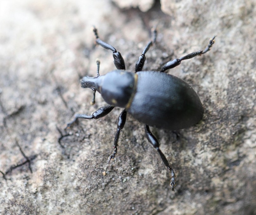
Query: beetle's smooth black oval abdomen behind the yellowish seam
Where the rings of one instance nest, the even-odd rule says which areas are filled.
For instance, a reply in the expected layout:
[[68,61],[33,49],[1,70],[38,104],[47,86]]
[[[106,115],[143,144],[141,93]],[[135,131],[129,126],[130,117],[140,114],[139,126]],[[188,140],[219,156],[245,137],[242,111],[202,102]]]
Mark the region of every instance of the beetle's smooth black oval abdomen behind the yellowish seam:
[[202,119],[203,105],[189,84],[164,72],[136,74],[136,93],[127,109],[135,119],[169,130],[187,128]]

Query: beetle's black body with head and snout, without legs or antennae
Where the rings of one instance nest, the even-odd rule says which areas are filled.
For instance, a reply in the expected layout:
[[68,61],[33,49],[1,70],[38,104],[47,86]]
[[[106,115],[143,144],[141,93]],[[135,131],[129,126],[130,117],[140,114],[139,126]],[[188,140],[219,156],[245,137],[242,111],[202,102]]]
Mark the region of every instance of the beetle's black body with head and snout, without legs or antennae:
[[[83,80],[87,84],[88,78]],[[114,70],[90,82],[108,104],[126,108],[135,119],[150,126],[177,130],[203,117],[203,105],[193,88],[164,72]]]

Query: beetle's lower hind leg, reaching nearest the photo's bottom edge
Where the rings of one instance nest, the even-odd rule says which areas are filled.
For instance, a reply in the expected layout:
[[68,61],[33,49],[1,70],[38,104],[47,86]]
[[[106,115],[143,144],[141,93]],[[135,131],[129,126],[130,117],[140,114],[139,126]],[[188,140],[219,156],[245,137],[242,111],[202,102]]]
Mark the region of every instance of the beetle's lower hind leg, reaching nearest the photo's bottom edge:
[[167,169],[169,171],[171,171],[171,183],[170,183],[170,186],[172,187],[172,191],[174,191],[174,187],[176,186],[176,182],[175,182],[175,173],[174,173],[174,170],[173,168],[171,167],[171,165],[169,164],[166,156],[162,153],[162,151],[159,149],[160,147],[160,144],[158,142],[158,140],[155,138],[155,136],[150,132],[149,130],[149,126],[145,124],[145,132],[146,132],[146,137],[148,139],[148,141],[154,146],[154,148],[158,151],[164,165],[167,167]]

